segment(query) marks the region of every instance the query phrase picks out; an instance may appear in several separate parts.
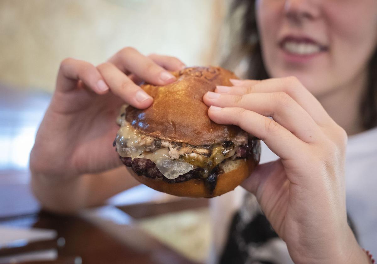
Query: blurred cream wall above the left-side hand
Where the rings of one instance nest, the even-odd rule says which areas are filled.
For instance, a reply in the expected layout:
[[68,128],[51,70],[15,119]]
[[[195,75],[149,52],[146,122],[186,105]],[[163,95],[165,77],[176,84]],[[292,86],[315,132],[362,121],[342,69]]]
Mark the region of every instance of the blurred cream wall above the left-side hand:
[[210,64],[223,15],[222,0],[1,0],[0,82],[51,92],[64,58],[125,46]]

